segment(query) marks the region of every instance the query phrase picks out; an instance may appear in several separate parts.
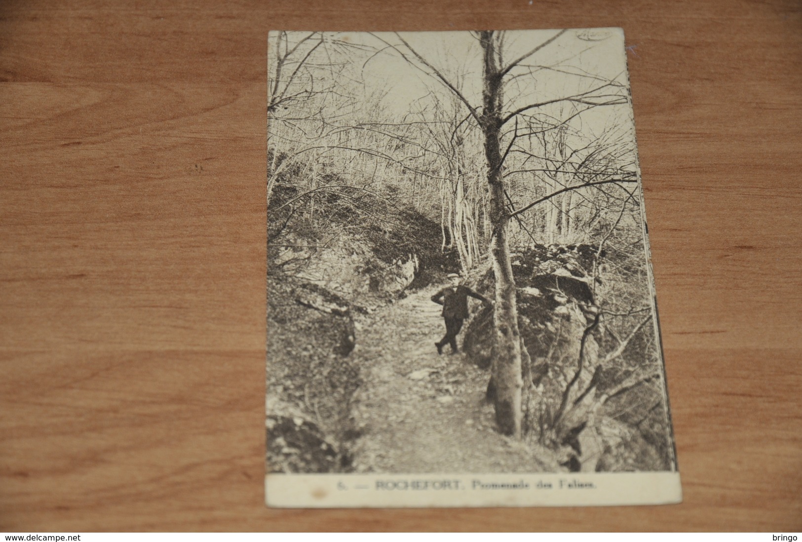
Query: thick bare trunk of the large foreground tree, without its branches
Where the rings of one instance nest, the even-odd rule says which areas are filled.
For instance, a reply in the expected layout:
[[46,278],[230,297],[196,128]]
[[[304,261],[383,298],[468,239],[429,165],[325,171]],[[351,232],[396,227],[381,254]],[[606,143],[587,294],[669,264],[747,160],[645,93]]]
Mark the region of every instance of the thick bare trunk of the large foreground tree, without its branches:
[[481,32],[484,51],[483,111],[484,155],[488,161],[490,257],[496,275],[496,310],[493,323],[496,341],[493,349],[492,379],[496,384],[496,423],[504,435],[520,439],[521,378],[520,331],[516,308],[515,279],[512,276],[507,224],[504,208],[504,179],[501,175],[500,129],[502,125],[502,74],[500,54],[492,30]]

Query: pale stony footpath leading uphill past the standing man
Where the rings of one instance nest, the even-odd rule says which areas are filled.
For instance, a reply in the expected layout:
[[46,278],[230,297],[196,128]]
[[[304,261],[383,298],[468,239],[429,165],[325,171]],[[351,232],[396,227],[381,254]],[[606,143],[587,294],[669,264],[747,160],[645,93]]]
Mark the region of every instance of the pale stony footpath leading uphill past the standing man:
[[[430,297],[412,293],[357,322],[354,350],[364,385],[357,392],[354,447],[360,472],[539,472],[533,451],[496,433],[484,402],[489,374],[463,354],[438,355],[445,327]],[[461,345],[461,334],[459,342]]]

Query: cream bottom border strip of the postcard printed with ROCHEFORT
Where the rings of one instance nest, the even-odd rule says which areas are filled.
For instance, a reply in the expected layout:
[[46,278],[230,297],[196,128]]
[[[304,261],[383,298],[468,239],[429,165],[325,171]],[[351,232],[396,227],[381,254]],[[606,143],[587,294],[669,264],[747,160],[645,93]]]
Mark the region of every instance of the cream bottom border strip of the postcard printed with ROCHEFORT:
[[677,504],[679,473],[268,474],[273,508],[459,508]]

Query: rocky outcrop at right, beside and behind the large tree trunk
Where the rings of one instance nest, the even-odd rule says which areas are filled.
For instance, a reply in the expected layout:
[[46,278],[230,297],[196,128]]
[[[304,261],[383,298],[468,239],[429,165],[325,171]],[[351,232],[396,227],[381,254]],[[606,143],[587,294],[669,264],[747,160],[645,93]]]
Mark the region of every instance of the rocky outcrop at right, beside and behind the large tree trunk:
[[[662,403],[656,404],[658,393],[643,393],[638,386],[657,377],[642,367],[624,370],[618,355],[602,351],[611,349],[596,301],[604,285],[591,276],[594,257],[593,247],[571,245],[538,247],[512,261],[520,334],[531,360],[524,369],[529,438],[557,451],[572,471],[656,470],[667,457],[660,453]],[[472,285],[492,295],[492,271]],[[492,362],[492,326],[492,310],[481,309],[465,332],[468,360],[482,368]],[[620,403],[627,395],[650,397],[654,409],[647,406],[646,418],[638,414],[631,424],[626,411],[610,418],[607,399]]]

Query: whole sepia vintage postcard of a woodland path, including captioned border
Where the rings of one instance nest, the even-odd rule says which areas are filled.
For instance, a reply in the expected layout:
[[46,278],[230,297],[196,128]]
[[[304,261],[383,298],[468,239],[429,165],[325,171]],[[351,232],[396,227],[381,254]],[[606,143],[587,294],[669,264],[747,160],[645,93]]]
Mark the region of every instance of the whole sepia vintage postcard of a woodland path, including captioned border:
[[623,31],[268,47],[267,504],[680,502]]

